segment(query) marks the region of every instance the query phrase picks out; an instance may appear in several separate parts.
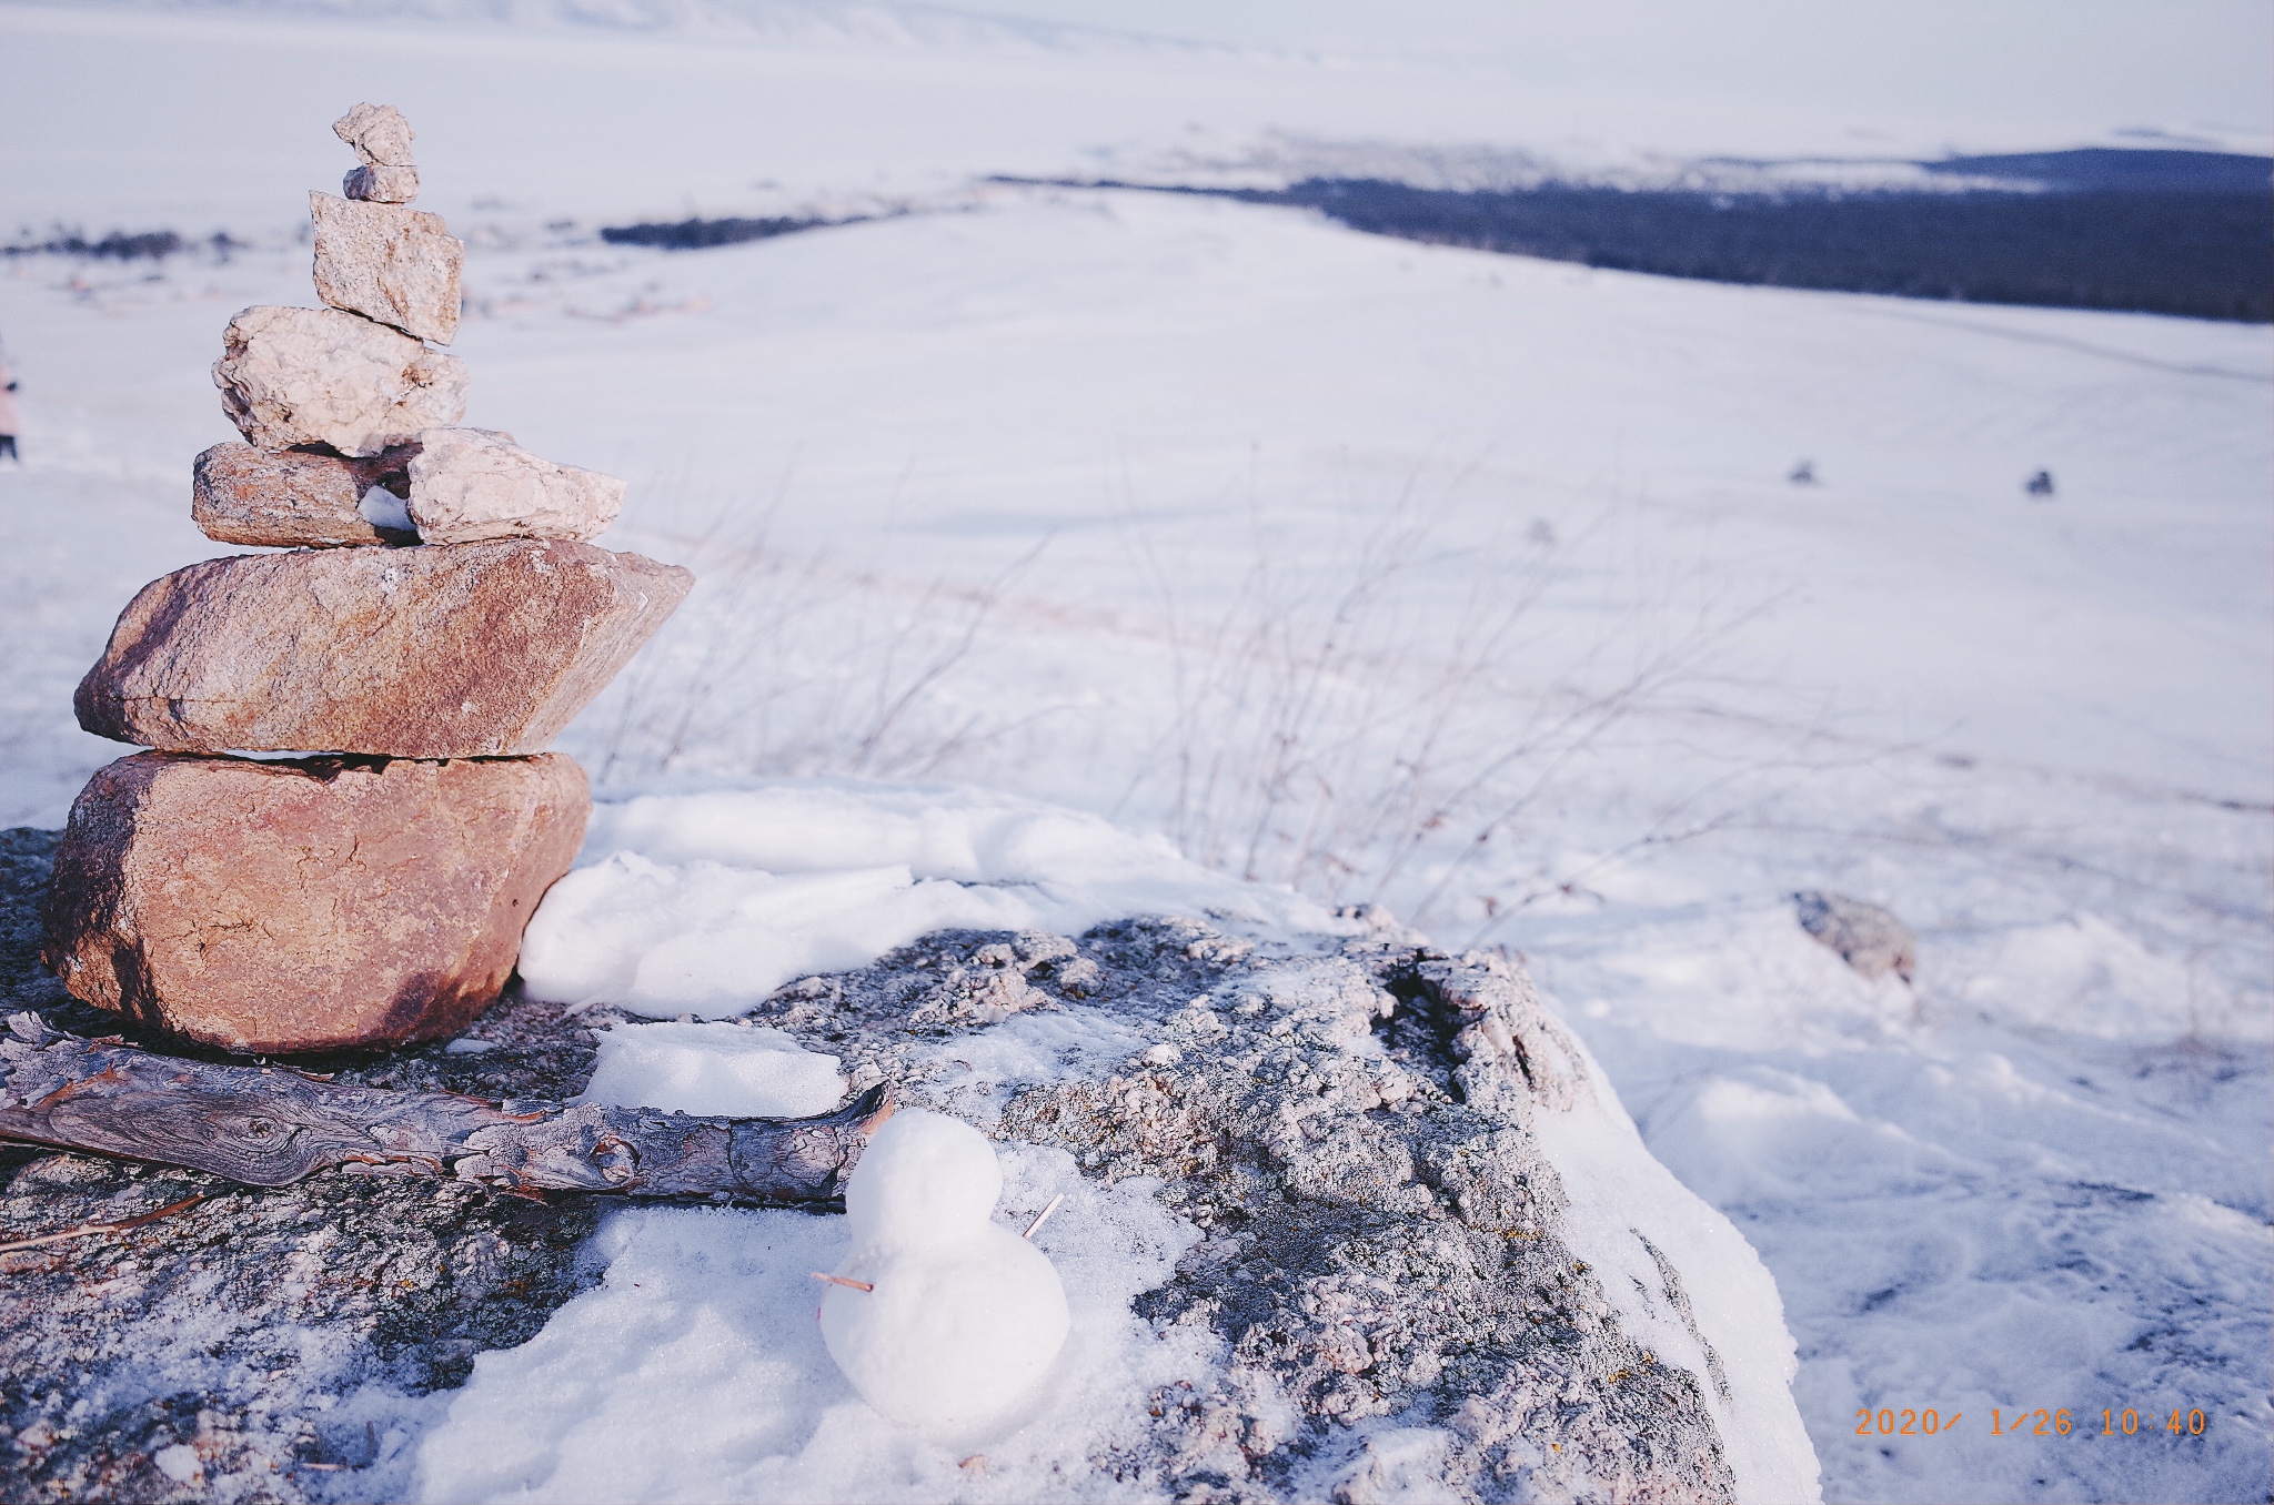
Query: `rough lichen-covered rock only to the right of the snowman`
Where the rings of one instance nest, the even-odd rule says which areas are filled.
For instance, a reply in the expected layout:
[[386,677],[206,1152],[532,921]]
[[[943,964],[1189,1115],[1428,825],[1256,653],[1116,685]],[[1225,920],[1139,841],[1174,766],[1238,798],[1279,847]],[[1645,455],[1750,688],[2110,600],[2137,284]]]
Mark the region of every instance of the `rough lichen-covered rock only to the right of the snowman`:
[[[989,1037],[1014,1016],[1032,1028],[1007,1066]],[[1396,1430],[1428,1439],[1414,1498],[1735,1498],[1712,1375],[1621,1330],[1562,1239],[1530,1128],[1587,1071],[1499,957],[1198,921],[939,934],[755,1018],[841,1055],[855,1087],[891,1078],[1092,1178],[1162,1180],[1203,1237],[1142,1316],[1223,1362],[1094,1460],[1126,1485],[1392,1498],[1414,1471],[1385,1453]]]

